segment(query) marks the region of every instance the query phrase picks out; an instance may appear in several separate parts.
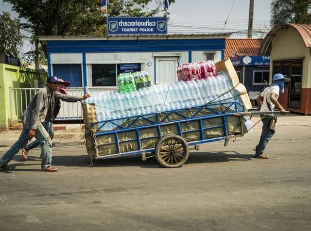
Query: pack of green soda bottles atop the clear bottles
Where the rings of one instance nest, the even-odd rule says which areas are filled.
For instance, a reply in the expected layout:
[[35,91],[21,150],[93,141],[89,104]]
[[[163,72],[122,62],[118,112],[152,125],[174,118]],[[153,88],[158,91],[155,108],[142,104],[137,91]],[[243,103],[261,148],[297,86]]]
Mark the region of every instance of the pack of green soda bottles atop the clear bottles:
[[150,76],[147,71],[122,73],[118,75],[117,82],[120,92],[135,91],[151,86]]

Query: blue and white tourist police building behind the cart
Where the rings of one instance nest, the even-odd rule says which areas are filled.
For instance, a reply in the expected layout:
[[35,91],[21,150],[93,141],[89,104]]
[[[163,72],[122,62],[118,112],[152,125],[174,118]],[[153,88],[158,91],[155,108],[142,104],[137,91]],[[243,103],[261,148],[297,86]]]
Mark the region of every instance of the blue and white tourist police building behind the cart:
[[[222,34],[45,36],[48,72],[71,87],[109,91],[117,75],[146,70],[152,83],[175,82],[176,66],[225,57]],[[93,91],[94,92],[94,91]]]

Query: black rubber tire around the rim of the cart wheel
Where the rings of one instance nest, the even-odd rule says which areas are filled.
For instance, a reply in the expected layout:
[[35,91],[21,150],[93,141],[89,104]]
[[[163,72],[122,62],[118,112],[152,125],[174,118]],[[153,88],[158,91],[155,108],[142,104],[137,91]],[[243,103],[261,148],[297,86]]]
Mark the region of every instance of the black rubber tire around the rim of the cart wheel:
[[[181,144],[183,145],[184,151],[186,152],[185,157],[182,159],[182,161],[177,163],[176,165],[168,165],[160,157],[160,148],[161,148],[162,144],[165,141],[170,140],[172,138],[179,140],[181,142]],[[161,165],[163,167],[169,167],[169,168],[180,167],[180,166],[182,166],[183,164],[185,164],[187,162],[188,158],[189,158],[189,146],[188,146],[188,143],[179,135],[176,135],[176,134],[164,135],[164,136],[162,136],[162,139],[156,144],[156,147],[155,147],[155,159],[156,159],[157,163],[159,163],[159,165]]]

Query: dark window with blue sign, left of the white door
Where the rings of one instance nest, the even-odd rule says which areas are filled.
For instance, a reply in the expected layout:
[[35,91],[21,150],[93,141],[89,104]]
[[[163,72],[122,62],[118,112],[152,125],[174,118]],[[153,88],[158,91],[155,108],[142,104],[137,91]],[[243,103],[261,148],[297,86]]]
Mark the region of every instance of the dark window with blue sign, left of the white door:
[[92,86],[117,86],[120,73],[141,70],[141,64],[92,64]]

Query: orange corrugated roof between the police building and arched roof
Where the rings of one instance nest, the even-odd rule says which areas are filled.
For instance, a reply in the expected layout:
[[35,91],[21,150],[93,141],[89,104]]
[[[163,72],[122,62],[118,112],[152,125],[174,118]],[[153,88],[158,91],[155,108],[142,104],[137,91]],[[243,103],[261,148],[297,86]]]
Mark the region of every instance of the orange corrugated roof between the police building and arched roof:
[[258,55],[258,50],[263,39],[261,38],[227,38],[225,40],[225,59],[236,55]]

